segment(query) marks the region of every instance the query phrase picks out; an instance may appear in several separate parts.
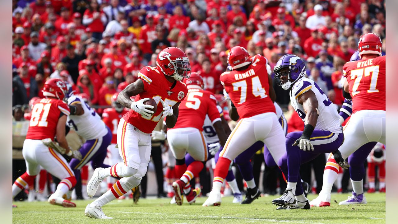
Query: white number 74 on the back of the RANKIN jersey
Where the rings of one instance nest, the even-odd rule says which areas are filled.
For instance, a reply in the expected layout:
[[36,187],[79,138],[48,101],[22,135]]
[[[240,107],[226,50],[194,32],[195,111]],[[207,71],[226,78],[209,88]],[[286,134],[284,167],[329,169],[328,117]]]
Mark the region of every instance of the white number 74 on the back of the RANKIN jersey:
[[[246,83],[246,80],[242,80],[239,82],[232,83],[233,91],[239,91],[240,88],[240,100],[238,104],[242,104],[246,102],[246,96],[247,96],[247,88],[248,84]],[[265,89],[263,86],[261,86],[261,82],[258,76],[255,76],[252,78],[252,94],[255,97],[260,97],[260,98],[265,98],[268,95],[265,94]]]

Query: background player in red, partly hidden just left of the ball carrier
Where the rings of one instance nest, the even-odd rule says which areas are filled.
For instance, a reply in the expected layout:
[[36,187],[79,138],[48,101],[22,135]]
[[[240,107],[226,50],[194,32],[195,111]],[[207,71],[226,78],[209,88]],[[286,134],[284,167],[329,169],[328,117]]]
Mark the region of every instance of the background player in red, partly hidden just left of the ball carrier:
[[[118,95],[119,93],[112,95],[112,108],[106,108],[102,113],[103,122],[112,131],[111,144],[108,146],[108,162],[110,164],[116,164],[123,161],[119,155],[119,149],[115,147],[117,143],[117,125],[119,124],[120,118],[122,118],[128,110],[117,102]],[[107,179],[107,183],[108,189],[111,189],[112,185],[115,183],[115,178],[109,177]]]

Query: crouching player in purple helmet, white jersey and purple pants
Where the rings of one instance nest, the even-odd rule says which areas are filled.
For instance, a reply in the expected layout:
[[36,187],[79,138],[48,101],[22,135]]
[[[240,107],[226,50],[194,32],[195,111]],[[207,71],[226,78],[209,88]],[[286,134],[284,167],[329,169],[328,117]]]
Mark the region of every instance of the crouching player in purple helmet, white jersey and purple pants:
[[290,90],[290,100],[298,116],[304,121],[304,131],[290,132],[286,136],[286,153],[278,165],[287,176],[287,188],[273,204],[289,208],[309,209],[300,181],[300,164],[321,153],[332,152],[343,168],[349,165],[341,158],[338,147],[344,141],[339,115],[334,104],[319,86],[304,77],[305,64],[296,55],[284,55],[274,68],[274,79],[284,90]]

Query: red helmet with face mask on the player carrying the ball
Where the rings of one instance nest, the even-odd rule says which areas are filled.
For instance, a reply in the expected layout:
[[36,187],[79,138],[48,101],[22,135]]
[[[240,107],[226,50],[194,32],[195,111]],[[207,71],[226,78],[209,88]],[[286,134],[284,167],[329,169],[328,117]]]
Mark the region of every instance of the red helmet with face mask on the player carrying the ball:
[[167,47],[160,51],[156,59],[156,66],[164,75],[169,75],[180,81],[188,78],[191,73],[191,65],[184,51],[178,47]]

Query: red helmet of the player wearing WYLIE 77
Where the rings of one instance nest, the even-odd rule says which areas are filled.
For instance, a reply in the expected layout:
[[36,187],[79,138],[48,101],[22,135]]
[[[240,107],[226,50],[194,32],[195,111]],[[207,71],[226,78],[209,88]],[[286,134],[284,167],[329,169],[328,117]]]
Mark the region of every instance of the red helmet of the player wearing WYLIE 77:
[[381,56],[383,44],[380,37],[375,33],[366,33],[359,38],[358,51],[359,57],[363,54],[377,54]]

